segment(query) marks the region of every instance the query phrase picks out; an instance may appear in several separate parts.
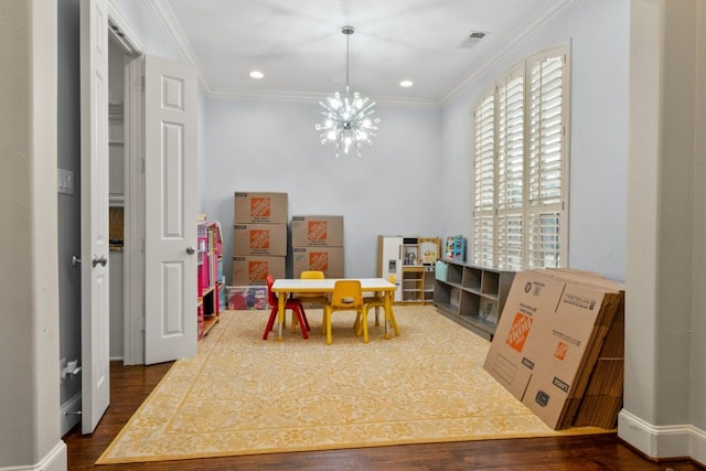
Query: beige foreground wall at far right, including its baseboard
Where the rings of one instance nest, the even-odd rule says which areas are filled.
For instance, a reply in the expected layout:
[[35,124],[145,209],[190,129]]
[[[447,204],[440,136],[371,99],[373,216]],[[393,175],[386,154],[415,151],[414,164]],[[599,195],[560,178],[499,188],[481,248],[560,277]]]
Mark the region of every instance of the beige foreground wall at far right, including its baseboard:
[[631,3],[625,393],[619,435],[706,463],[706,11]]

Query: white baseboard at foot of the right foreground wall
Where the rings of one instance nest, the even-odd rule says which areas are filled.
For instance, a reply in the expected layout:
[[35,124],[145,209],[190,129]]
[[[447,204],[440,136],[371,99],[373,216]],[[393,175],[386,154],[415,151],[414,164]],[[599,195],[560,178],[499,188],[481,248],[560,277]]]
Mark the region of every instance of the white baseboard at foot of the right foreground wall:
[[654,426],[622,409],[618,415],[618,437],[652,459],[706,459],[706,433],[688,424]]

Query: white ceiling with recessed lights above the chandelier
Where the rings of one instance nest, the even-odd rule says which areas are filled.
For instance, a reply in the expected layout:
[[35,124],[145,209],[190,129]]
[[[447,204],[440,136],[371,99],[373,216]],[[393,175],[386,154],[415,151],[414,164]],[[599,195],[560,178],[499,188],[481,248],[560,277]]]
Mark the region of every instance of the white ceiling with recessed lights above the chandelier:
[[[207,93],[437,105],[576,0],[151,0]],[[472,32],[488,33],[473,44]],[[249,77],[253,69],[265,77]],[[414,86],[403,88],[409,79]]]

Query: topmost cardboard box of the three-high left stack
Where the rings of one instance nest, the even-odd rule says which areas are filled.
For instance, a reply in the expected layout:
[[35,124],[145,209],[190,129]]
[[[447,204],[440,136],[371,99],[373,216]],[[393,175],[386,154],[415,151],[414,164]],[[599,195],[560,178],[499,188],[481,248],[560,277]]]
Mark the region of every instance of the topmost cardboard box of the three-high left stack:
[[287,224],[287,193],[244,193],[234,196],[234,224]]

